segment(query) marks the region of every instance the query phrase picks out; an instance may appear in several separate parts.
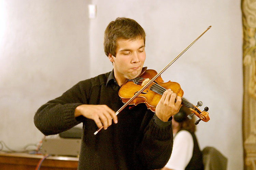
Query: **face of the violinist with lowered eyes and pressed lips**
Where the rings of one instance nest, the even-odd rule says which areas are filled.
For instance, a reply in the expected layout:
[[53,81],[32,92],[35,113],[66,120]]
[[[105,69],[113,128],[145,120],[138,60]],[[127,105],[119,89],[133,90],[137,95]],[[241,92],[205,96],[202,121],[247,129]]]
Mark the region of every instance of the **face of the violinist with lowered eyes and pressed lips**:
[[118,39],[116,56],[109,54],[116,80],[134,79],[141,73],[146,58],[143,39]]

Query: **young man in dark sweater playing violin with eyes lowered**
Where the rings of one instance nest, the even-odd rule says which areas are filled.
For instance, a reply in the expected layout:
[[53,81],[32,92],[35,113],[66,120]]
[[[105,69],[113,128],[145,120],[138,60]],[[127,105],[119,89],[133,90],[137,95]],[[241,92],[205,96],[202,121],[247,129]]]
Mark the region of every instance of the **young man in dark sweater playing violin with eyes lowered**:
[[[104,51],[113,70],[81,81],[42,105],[35,113],[35,126],[53,135],[82,122],[79,170],[160,169],[171,155],[171,118],[181,107],[181,97],[168,89],[155,113],[141,103],[124,108],[117,118],[115,112],[123,106],[120,86],[141,74],[146,58],[143,28],[129,18],[111,21],[105,30]],[[102,126],[104,130],[94,135]]]

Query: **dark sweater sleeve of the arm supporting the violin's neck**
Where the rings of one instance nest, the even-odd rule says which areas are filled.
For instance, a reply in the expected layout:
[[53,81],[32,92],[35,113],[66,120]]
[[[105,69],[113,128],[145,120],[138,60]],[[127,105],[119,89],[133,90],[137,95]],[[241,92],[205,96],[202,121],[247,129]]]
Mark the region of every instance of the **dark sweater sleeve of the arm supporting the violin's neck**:
[[172,124],[158,126],[153,117],[144,129],[137,154],[148,169],[161,169],[171,156],[172,146]]

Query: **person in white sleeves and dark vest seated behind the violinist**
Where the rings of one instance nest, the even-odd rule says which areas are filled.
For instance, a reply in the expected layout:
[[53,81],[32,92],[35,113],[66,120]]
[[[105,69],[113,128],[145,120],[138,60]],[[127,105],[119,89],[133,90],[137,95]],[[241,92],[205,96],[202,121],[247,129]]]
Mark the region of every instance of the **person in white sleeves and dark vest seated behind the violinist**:
[[194,120],[187,118],[189,108],[182,106],[173,116],[173,149],[171,157],[162,170],[203,170],[202,153],[195,136]]

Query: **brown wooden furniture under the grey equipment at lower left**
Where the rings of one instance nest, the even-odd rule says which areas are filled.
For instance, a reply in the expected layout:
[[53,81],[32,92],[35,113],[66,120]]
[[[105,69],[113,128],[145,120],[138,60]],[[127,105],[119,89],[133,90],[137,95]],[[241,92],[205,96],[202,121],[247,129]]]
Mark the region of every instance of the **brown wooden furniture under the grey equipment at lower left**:
[[[35,170],[44,155],[0,152],[1,170]],[[42,162],[40,170],[76,170],[77,157],[49,156]]]

